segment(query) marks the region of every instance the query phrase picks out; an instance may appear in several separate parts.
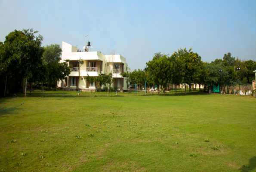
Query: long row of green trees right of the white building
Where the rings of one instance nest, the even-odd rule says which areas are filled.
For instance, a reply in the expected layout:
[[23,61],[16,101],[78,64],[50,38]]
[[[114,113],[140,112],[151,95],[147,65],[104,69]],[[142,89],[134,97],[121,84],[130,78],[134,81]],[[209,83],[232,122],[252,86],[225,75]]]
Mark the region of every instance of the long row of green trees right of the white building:
[[153,59],[146,64],[147,70],[138,69],[121,75],[127,77],[128,82],[140,87],[146,82],[147,85],[157,85],[157,88],[161,86],[167,90],[170,85],[177,88],[182,84],[185,88],[188,86],[191,93],[193,83],[198,84],[199,88],[203,85],[204,92],[208,85],[213,84],[222,86],[228,83],[251,83],[255,79],[253,71],[256,70],[256,61],[240,60],[238,57],[235,59],[230,52],[224,54],[223,59],[202,61],[200,55],[191,48],[178,49],[172,55],[155,53]]

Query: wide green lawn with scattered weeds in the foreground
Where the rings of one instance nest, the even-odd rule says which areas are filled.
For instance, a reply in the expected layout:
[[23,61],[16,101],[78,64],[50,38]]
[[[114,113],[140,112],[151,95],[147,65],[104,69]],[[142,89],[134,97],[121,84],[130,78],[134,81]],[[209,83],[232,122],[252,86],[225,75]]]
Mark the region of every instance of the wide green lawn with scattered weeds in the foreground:
[[256,98],[62,91],[14,98],[0,98],[0,111],[25,101],[0,112],[0,171],[256,171]]

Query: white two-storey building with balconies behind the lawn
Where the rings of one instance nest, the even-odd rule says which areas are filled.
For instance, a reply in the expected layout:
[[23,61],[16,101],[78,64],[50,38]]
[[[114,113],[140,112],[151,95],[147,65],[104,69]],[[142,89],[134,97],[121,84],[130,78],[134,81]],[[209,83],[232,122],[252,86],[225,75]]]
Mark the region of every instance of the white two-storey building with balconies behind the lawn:
[[[114,83],[112,87],[117,86],[118,90],[127,90],[128,83],[125,78],[120,76],[122,72],[130,72],[126,58],[121,55],[104,55],[100,52],[82,52],[77,47],[62,42],[62,61],[69,60],[71,74],[63,80],[65,90],[91,91],[99,88],[99,83],[89,83],[86,80],[87,74],[91,77],[97,77],[99,74],[112,73]],[[79,65],[78,61],[83,63]],[[113,69],[113,66],[119,69]],[[79,67],[80,66],[80,67]],[[58,86],[61,87],[62,82],[59,81]],[[101,86],[104,89],[105,86]]]

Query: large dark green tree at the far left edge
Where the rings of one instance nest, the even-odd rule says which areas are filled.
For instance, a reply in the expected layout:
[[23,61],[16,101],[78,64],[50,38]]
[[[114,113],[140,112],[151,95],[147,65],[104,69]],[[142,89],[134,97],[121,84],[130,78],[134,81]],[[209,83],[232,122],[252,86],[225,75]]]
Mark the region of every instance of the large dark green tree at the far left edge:
[[[27,96],[27,79],[34,78],[33,74],[37,73],[42,64],[42,55],[44,48],[41,47],[43,37],[39,34],[34,36],[38,31],[33,29],[15,30],[6,36],[1,61],[3,61],[6,77],[15,76],[26,78],[25,96]],[[11,68],[10,68],[11,67]],[[7,74],[7,72],[9,74]]]

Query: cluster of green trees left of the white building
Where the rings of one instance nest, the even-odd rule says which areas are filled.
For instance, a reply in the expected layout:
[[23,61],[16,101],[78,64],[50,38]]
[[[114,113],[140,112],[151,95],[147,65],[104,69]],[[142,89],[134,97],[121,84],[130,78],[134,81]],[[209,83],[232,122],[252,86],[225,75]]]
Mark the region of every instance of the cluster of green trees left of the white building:
[[[0,76],[6,83],[10,78],[20,80],[22,92],[27,94],[27,83],[46,83],[48,87],[71,73],[66,62],[60,63],[59,44],[42,46],[43,36],[33,29],[10,32],[4,42],[0,42]],[[20,85],[21,85],[20,84]],[[64,92],[63,92],[64,95]]]

